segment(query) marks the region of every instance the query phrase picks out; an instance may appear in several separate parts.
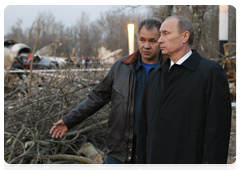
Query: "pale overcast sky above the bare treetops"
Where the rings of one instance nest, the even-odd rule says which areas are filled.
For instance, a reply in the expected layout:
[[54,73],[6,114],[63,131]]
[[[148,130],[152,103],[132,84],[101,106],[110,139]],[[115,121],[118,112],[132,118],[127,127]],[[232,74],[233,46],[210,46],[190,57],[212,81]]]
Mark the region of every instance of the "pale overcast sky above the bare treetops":
[[[56,22],[62,21],[66,27],[70,27],[80,18],[82,11],[88,14],[90,21],[94,21],[100,18],[101,12],[122,7],[123,5],[4,5],[4,34],[9,32],[18,18],[22,20],[23,30],[30,28],[42,12],[52,13]],[[138,7],[135,11],[146,11],[146,6]]]

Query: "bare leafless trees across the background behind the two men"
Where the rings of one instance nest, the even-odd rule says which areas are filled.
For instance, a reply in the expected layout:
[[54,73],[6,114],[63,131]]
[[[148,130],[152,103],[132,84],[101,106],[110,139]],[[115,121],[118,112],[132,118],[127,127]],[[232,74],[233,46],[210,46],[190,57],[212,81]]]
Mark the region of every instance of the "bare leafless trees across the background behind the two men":
[[[98,48],[104,45],[108,50],[122,49],[128,55],[127,24],[135,24],[135,49],[137,49],[137,26],[146,18],[156,18],[161,22],[170,15],[183,15],[194,24],[195,40],[193,48],[205,58],[219,57],[218,5],[150,5],[146,13],[140,13],[139,6],[125,6],[130,12],[118,8],[101,13],[99,19],[90,22],[87,13],[82,12],[74,26],[66,27],[62,21],[56,22],[55,16],[48,12],[39,13],[30,28],[21,28],[22,20],[17,19],[5,39],[14,39],[31,48],[37,36],[37,20],[40,18],[40,35],[37,50],[59,39],[63,42],[65,54],[76,53],[84,56],[97,56]],[[229,5],[228,51],[238,47],[238,6]]]

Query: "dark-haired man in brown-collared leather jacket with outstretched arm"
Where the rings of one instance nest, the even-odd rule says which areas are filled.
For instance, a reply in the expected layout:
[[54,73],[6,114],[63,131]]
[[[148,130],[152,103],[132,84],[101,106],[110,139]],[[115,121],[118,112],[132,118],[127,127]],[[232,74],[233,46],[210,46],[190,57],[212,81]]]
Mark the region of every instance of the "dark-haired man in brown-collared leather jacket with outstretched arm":
[[137,127],[144,85],[151,71],[163,62],[157,42],[160,26],[161,23],[155,19],[146,19],[139,24],[139,49],[116,61],[87,99],[54,123],[50,130],[52,138],[61,138],[66,131],[111,101],[105,170],[135,169]]

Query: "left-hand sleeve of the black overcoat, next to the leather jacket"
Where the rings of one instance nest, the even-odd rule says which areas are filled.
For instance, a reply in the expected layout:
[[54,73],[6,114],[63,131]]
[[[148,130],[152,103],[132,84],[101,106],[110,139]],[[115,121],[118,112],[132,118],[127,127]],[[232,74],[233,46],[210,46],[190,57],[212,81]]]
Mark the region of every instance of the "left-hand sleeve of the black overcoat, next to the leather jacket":
[[147,168],[147,156],[146,156],[146,144],[147,144],[147,133],[148,133],[148,125],[147,125],[147,93],[144,92],[143,100],[142,100],[142,108],[139,118],[138,125],[138,136],[137,136],[137,149],[136,149],[136,162],[135,167],[146,169]]

